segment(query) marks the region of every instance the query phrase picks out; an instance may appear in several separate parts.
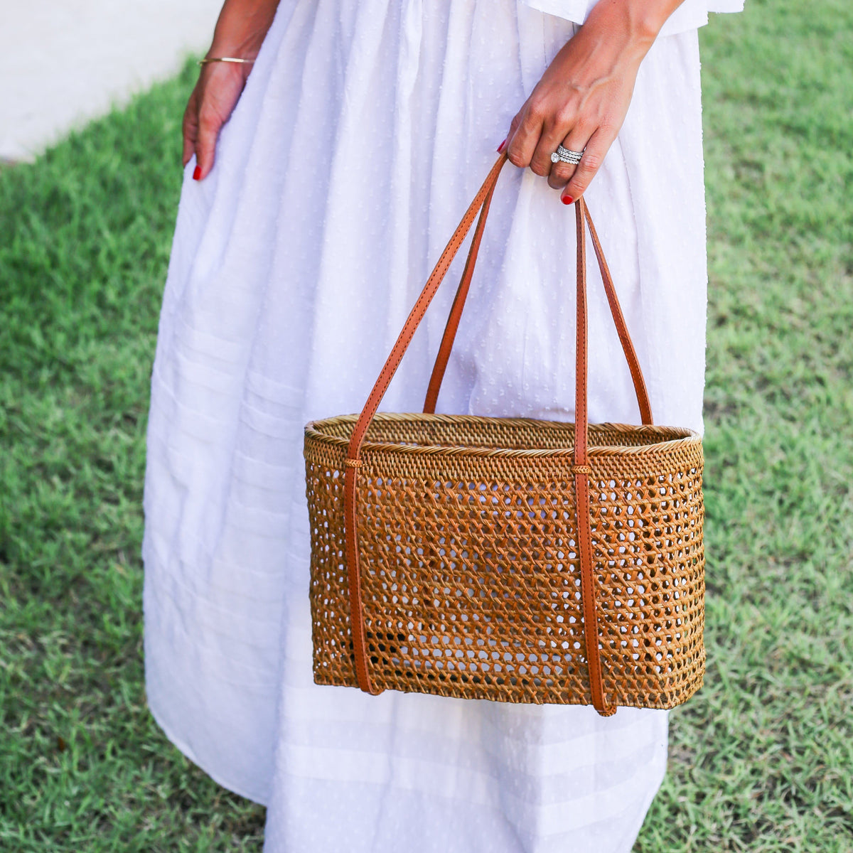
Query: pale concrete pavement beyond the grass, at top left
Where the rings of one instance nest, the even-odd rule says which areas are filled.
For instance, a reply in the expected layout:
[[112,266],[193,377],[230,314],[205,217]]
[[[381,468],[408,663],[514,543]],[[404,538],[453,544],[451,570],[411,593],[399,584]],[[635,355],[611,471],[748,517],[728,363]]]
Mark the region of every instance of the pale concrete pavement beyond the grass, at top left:
[[0,0],[0,160],[72,127],[207,49],[222,0]]

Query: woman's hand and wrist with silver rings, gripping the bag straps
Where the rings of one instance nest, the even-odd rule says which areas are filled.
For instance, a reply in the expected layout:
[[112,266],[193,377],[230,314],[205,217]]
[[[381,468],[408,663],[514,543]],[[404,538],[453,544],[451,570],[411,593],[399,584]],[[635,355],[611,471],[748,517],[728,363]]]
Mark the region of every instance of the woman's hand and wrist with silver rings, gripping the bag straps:
[[[589,186],[622,127],[642,58],[682,0],[599,0],[516,114],[498,151],[548,177],[572,204]],[[562,143],[575,166],[551,162]]]

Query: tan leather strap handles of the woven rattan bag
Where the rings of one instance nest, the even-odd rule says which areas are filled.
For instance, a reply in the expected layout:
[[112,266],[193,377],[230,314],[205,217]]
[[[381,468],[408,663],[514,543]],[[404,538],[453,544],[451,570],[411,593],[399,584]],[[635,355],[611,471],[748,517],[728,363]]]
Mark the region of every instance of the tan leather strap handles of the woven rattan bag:
[[[468,206],[453,236],[450,238],[444,252],[438,258],[438,263],[432,270],[427,283],[424,285],[421,295],[409,312],[403,329],[392,347],[391,354],[383,366],[373,390],[370,392],[367,402],[364,404],[361,415],[358,416],[353,427],[350,443],[346,451],[344,470],[344,524],[345,524],[345,548],[346,565],[350,589],[350,626],[352,634],[352,646],[356,664],[356,676],[358,686],[366,693],[380,693],[374,688],[368,670],[367,645],[364,635],[364,613],[361,597],[361,571],[358,561],[358,528],[357,528],[357,468],[361,467],[361,448],[368,427],[379,409],[382,397],[391,383],[397,367],[409,347],[409,343],[415,334],[415,330],[421,323],[432,298],[438,291],[438,287],[444,280],[447,270],[453,258],[456,257],[461,242],[464,241],[468,231],[471,229],[474,217],[480,212],[479,222],[475,230],[465,270],[462,274],[459,288],[456,292],[453,306],[450,310],[447,326],[444,329],[444,337],[439,347],[436,364],[432,371],[430,388],[427,391],[427,403],[425,411],[434,410],[435,400],[438,397],[438,388],[444,376],[444,368],[450,357],[450,349],[456,336],[459,325],[461,310],[465,305],[468,287],[473,276],[473,267],[476,263],[479,244],[485,228],[485,220],[488,216],[492,195],[495,191],[497,178],[500,175],[504,163],[507,162],[507,154],[504,152],[496,160],[486,176],[485,181]],[[618,298],[612,285],[612,278],[607,270],[604,254],[589,210],[583,200],[575,202],[577,220],[577,363],[576,363],[576,395],[575,395],[575,445],[572,451],[572,477],[574,479],[575,497],[577,507],[577,537],[579,540],[580,565],[581,565],[581,595],[583,603],[583,634],[585,652],[589,670],[589,688],[592,704],[595,710],[604,716],[609,716],[616,711],[615,706],[608,705],[604,695],[601,678],[601,662],[598,648],[598,627],[595,612],[595,577],[593,574],[592,560],[592,532],[589,519],[589,473],[587,454],[587,304],[586,304],[586,239],[584,219],[589,222],[590,232],[593,237],[596,258],[601,268],[601,277],[605,282],[607,299],[610,303],[613,320],[616,322],[619,339],[622,341],[625,357],[628,360],[631,375],[634,379],[637,402],[640,406],[642,422],[652,423],[651,407],[648,402],[648,394],[645,381],[642,377],[640,365],[636,359],[634,346],[630,334],[624,323],[624,316],[618,304]],[[428,409],[432,405],[432,409]]]

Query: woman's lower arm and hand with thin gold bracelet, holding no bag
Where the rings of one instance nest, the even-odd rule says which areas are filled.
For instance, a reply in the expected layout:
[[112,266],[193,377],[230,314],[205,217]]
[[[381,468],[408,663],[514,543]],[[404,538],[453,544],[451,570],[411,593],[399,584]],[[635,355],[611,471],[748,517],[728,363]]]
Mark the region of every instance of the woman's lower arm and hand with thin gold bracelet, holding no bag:
[[[276,16],[279,0],[225,0],[208,56],[253,60]],[[183,113],[183,165],[195,154],[196,181],[213,168],[219,131],[240,100],[251,64],[210,62],[201,67]]]

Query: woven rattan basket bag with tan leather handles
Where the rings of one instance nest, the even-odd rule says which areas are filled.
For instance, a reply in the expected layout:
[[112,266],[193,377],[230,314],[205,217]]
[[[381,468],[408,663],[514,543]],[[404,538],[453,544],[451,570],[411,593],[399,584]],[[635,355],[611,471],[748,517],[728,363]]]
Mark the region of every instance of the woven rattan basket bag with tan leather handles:
[[[502,154],[361,415],[305,427],[314,680],[508,702],[670,708],[702,683],[699,433],[653,426],[601,244],[577,215],[575,424],[435,415]],[[423,414],[377,414],[480,212]],[[642,425],[587,423],[585,223]]]

